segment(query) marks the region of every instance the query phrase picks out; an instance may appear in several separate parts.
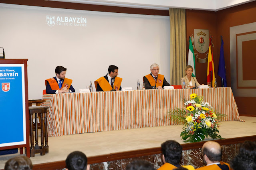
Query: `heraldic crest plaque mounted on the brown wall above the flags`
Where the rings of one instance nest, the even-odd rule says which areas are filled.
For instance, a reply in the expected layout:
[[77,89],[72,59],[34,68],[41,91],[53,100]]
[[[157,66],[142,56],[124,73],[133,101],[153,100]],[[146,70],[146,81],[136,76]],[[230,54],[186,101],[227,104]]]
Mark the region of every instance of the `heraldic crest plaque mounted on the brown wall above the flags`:
[[194,29],[195,48],[199,53],[205,53],[209,49],[209,30]]

